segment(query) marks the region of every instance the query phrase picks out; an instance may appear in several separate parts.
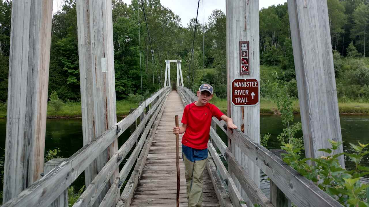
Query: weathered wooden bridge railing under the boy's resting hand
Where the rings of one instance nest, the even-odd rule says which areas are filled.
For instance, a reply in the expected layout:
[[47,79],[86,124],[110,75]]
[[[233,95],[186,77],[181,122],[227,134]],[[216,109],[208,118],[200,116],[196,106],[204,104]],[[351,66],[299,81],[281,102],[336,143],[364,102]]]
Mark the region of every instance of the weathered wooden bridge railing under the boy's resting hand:
[[[197,100],[197,97],[188,88],[180,86],[177,88],[177,92],[180,94],[185,105]],[[311,182],[311,180],[300,175],[296,170],[283,162],[276,154],[267,150],[259,143],[251,141],[246,134],[238,129],[226,130],[224,124],[224,121],[219,121],[213,117],[213,128],[210,129],[211,142],[208,143],[208,151],[210,152],[211,158],[222,178],[221,180],[224,181],[223,183],[226,183],[224,187],[228,187],[229,190],[229,193],[226,194],[227,197],[225,196],[226,192],[222,192],[222,186],[216,186],[217,183],[213,181],[214,187],[220,189],[217,196],[222,206],[245,206],[234,183],[234,180],[237,179],[250,201],[253,204],[259,204],[261,207],[290,206],[288,202],[280,202],[283,197],[288,198],[290,202],[293,202],[298,207],[342,207],[338,201],[323,192],[323,190]],[[235,158],[234,154],[218,136],[216,126],[219,126],[220,129],[227,134],[228,138],[231,139],[232,143],[235,143],[252,162],[268,175],[271,181],[270,200],[261,192],[258,187],[259,185],[254,183],[240,162]],[[234,174],[234,177],[230,175],[227,168],[223,165],[216,148],[226,159],[228,169]],[[214,171],[215,166],[211,166],[211,163],[208,165],[209,173]],[[212,173],[210,173],[210,175],[212,176]]]

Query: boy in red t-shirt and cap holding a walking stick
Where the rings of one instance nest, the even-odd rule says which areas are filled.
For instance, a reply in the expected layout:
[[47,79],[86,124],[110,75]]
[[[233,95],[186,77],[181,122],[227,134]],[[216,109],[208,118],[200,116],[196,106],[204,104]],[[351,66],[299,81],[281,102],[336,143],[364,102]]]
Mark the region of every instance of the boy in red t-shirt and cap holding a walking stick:
[[237,129],[230,117],[215,105],[208,103],[213,98],[213,87],[202,84],[197,91],[199,99],[184,108],[182,127],[173,127],[173,134],[183,134],[182,157],[186,176],[188,207],[201,207],[203,198],[203,171],[207,161],[207,143],[211,118],[223,119],[230,129]]

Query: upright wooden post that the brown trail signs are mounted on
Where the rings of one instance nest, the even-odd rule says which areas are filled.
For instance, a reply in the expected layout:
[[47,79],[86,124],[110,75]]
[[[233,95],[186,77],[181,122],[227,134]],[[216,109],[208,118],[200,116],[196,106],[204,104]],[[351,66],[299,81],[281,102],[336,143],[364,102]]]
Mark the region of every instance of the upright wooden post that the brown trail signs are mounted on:
[[[228,116],[252,141],[260,143],[260,105],[234,106],[231,102],[231,82],[234,78],[259,80],[259,0],[226,1],[227,13],[227,102]],[[240,75],[239,41],[249,41],[249,76]],[[215,89],[216,90],[216,89]],[[228,147],[249,173],[257,186],[260,185],[260,169],[243,154],[228,138]],[[241,189],[234,172],[230,172],[239,192],[248,206],[252,206]]]

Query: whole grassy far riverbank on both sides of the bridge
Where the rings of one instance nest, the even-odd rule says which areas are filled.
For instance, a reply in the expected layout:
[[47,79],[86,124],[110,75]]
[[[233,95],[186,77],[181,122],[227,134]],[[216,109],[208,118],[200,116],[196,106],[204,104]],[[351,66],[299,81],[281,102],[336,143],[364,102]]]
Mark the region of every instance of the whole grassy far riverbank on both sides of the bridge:
[[[227,100],[214,98],[210,101],[218,106],[223,112],[227,113]],[[117,117],[124,117],[130,114],[130,109],[135,109],[138,104],[129,101],[117,101]],[[369,114],[369,103],[359,102],[347,102],[338,103],[339,113],[341,114]],[[6,104],[0,103],[0,118],[6,118]],[[277,105],[269,99],[261,99],[260,101],[260,113],[261,114],[279,114]],[[293,113],[300,113],[299,101],[293,102]],[[52,118],[79,118],[81,114],[80,102],[68,102],[63,103],[59,110],[55,110],[54,107],[48,105],[47,116]]]

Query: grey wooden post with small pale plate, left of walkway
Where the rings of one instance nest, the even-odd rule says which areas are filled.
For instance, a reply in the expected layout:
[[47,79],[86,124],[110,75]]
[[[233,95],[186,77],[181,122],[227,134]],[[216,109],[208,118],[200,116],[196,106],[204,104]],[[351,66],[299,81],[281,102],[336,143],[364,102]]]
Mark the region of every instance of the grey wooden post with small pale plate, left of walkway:
[[[86,145],[117,123],[113,21],[111,0],[78,0],[76,3],[83,145]],[[118,143],[115,140],[85,170],[86,186],[117,150]],[[118,169],[95,204],[103,200],[117,176]]]

